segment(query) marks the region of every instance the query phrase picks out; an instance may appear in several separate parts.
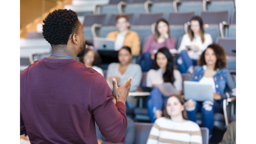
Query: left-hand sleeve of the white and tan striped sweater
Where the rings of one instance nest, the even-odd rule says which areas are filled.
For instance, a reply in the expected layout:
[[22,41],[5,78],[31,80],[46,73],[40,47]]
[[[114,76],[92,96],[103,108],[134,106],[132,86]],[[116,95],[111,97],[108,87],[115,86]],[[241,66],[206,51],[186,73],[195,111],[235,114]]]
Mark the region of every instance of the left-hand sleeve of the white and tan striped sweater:
[[149,132],[149,136],[146,144],[158,144],[159,135],[160,135],[160,126],[155,121]]

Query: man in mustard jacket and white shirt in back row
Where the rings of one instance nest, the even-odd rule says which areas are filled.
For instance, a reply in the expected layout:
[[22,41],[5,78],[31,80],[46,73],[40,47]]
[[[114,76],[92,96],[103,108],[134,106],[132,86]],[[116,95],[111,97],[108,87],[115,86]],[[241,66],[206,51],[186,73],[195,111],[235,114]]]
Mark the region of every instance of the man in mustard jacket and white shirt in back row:
[[123,46],[131,48],[132,54],[140,53],[140,38],[134,31],[129,30],[130,23],[126,15],[116,17],[116,27],[118,31],[108,33],[106,38],[115,39],[115,50],[120,50]]

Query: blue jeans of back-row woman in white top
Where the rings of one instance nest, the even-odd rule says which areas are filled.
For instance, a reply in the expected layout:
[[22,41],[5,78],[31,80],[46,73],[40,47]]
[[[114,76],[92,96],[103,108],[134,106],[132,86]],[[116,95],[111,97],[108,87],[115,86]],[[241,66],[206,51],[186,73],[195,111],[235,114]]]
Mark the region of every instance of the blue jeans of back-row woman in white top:
[[189,67],[197,65],[197,61],[190,59],[187,51],[185,50],[180,52],[177,57],[176,63],[179,66],[180,73],[187,73]]

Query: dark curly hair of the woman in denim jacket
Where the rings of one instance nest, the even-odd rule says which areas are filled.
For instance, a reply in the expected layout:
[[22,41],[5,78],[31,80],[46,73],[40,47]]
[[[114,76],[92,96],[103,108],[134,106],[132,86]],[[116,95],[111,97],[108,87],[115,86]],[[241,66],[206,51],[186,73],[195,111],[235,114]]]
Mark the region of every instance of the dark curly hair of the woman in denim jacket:
[[[224,48],[222,48],[219,44],[216,44],[216,43],[210,44],[207,48],[213,49],[213,51],[216,55],[217,61],[216,61],[214,69],[217,70],[217,69],[226,68],[227,67],[227,59],[226,59],[226,52],[225,52]],[[198,65],[200,65],[200,66],[206,65],[205,58],[204,58],[205,51],[206,51],[206,49],[204,50],[204,52],[202,52],[202,54],[198,60]]]

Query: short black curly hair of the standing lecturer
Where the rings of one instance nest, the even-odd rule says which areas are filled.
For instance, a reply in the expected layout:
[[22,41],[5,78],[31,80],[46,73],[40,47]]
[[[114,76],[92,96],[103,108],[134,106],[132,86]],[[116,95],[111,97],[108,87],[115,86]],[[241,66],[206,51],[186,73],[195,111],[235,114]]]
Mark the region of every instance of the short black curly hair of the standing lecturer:
[[43,20],[43,36],[51,45],[67,45],[71,34],[78,30],[76,12],[58,9]]

